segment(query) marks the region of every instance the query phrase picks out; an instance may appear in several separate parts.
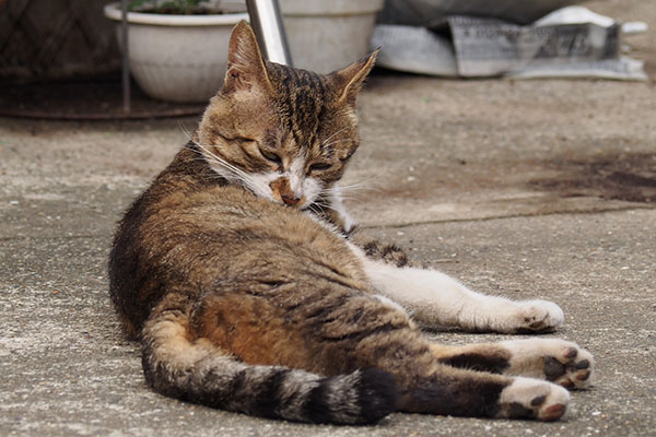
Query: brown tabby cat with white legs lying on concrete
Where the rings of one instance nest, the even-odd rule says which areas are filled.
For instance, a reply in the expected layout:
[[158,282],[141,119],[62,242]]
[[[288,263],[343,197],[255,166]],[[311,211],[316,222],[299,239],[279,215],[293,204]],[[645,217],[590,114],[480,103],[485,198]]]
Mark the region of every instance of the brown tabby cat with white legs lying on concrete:
[[534,338],[445,346],[417,324],[544,332],[563,321],[557,305],[484,296],[386,262],[403,262],[396,248],[352,243],[338,181],[376,54],[315,74],[263,61],[245,23],[229,52],[223,88],[129,208],[110,253],[112,298],[142,343],[148,383],[312,423],[561,417],[565,388],[591,382],[585,350]]

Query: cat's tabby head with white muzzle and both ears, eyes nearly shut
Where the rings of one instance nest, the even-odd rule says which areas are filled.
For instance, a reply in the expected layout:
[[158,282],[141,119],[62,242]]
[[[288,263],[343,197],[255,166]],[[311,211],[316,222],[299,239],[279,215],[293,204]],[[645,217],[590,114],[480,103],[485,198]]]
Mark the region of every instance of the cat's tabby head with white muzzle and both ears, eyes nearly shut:
[[223,88],[197,131],[206,160],[259,197],[309,206],[358,149],[355,97],[375,58],[326,75],[296,70],[263,61],[250,27],[237,24]]

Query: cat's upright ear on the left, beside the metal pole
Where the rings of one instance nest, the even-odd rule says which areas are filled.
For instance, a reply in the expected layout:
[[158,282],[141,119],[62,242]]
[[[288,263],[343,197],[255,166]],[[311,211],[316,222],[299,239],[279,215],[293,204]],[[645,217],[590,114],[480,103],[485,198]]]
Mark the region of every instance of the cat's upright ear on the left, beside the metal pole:
[[245,21],[237,23],[227,46],[227,71],[222,93],[268,92],[271,83],[253,29]]

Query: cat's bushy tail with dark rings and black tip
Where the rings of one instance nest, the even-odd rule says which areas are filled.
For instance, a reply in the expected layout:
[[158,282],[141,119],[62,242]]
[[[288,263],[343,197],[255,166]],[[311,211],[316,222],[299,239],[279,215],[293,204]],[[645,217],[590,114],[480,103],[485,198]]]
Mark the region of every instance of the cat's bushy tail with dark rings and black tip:
[[207,339],[190,340],[188,328],[187,311],[160,305],[142,331],[145,379],[163,394],[311,423],[370,424],[395,411],[394,377],[384,370],[323,377],[286,367],[251,366]]

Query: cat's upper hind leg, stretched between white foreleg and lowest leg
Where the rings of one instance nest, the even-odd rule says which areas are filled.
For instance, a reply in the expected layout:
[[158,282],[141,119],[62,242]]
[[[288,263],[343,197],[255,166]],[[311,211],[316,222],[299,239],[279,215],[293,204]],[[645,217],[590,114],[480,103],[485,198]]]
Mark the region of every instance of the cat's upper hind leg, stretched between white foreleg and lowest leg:
[[576,343],[560,339],[466,346],[432,344],[431,350],[441,363],[454,367],[546,379],[569,389],[585,389],[594,381],[593,355]]

